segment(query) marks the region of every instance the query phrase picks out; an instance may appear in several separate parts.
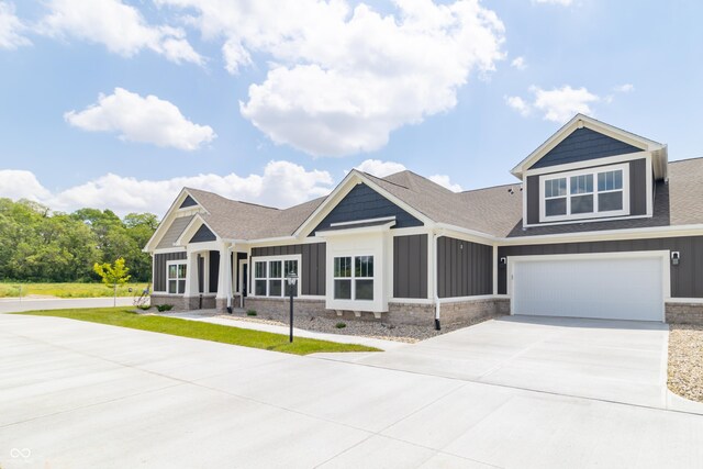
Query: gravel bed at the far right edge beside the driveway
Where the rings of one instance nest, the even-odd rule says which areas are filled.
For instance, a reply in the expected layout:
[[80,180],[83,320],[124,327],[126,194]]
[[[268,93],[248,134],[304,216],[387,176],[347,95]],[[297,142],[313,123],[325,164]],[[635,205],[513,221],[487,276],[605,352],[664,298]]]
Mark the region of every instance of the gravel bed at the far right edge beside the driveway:
[[669,327],[669,389],[703,402],[703,326],[671,324]]

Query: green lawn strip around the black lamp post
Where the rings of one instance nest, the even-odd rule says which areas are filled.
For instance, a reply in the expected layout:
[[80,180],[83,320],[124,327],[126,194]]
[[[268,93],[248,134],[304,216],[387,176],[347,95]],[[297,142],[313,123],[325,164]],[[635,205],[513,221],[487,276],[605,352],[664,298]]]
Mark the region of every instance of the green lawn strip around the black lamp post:
[[198,321],[179,320],[177,317],[150,316],[136,314],[130,308],[99,308],[77,310],[27,311],[14,314],[35,316],[68,317],[92,323],[158,332],[181,337],[201,338],[223,344],[242,345],[244,347],[263,348],[265,350],[284,351],[287,354],[308,355],[324,351],[380,351],[378,348],[354,344],[317,340],[313,338],[295,338],[292,344],[288,336],[223,326]]

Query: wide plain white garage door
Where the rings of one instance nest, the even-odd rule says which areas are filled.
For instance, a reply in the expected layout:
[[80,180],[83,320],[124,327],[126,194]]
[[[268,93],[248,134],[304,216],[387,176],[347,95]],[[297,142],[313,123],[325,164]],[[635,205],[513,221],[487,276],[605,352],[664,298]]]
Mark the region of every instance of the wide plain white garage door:
[[662,257],[511,259],[513,314],[663,321]]

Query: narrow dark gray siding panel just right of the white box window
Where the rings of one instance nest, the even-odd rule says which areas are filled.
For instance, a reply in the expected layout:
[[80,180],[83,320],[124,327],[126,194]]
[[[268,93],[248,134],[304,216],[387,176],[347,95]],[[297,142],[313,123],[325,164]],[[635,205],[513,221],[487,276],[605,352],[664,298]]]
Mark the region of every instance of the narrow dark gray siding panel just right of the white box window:
[[427,298],[427,235],[393,237],[393,298]]

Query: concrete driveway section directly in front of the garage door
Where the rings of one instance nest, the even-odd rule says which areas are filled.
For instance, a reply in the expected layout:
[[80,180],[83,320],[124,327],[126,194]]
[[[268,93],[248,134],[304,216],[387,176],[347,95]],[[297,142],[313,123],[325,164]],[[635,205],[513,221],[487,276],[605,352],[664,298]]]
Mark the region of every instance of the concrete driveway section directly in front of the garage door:
[[386,354],[330,358],[665,407],[668,336],[661,323],[506,316]]

